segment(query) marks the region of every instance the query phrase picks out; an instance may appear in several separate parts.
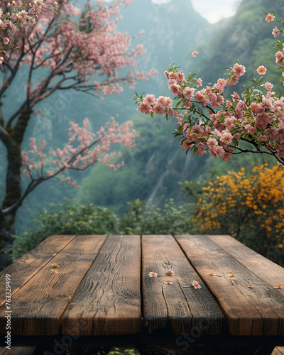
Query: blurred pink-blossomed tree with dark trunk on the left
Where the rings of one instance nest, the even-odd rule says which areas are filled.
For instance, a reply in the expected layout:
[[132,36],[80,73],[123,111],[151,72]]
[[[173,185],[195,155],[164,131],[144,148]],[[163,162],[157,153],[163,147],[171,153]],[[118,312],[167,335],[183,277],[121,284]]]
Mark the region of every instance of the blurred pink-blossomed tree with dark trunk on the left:
[[[18,48],[4,53],[0,67],[1,153],[7,157],[0,240],[6,250],[11,247],[11,234],[15,233],[17,209],[36,186],[62,174],[61,182],[76,187],[76,182],[66,175],[67,170],[84,170],[96,161],[115,169],[117,166],[111,163],[115,155],[110,153],[111,143],[133,146],[136,133],[131,130],[131,124],[119,126],[112,119],[110,124],[103,124],[96,135],[87,130],[87,120],[82,127],[71,123],[69,141],[49,153],[45,141],[37,142],[35,138],[30,139],[30,151],[22,149],[23,142],[28,141],[27,126],[37,104],[50,95],[56,97],[56,92],[71,89],[94,97],[119,94],[124,84],[133,86],[136,80],[146,80],[153,75],[154,70],[147,74],[135,70],[137,56],[145,55],[143,45],[131,49],[129,34],[116,30],[121,6],[130,3],[131,0],[121,0],[106,6],[104,1],[98,0],[94,6],[87,2],[80,10],[69,0],[50,5],[45,2],[39,21],[10,33],[11,43],[17,43]],[[36,11],[27,13],[36,15]],[[125,67],[133,67],[133,70],[120,75]],[[4,114],[4,97],[13,97],[17,77],[22,80],[24,99],[18,105],[13,102],[9,115]],[[22,170],[30,179],[24,189]],[[9,256],[2,254],[1,265],[8,263]]]

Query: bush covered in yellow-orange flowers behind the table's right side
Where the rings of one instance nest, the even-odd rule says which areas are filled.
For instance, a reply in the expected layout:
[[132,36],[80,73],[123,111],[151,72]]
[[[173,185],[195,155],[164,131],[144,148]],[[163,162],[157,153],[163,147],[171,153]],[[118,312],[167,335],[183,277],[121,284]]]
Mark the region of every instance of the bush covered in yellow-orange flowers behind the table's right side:
[[194,217],[200,234],[230,234],[283,263],[284,167],[229,171],[202,189]]

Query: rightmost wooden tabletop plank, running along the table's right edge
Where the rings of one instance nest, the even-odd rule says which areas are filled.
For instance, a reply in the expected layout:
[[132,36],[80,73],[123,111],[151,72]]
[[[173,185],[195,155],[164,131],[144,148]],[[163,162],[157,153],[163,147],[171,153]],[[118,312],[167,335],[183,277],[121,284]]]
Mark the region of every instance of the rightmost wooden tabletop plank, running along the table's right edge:
[[[208,238],[271,287],[277,284],[284,286],[284,268],[281,266],[249,249],[231,236],[208,236]],[[277,291],[283,293],[283,289]]]

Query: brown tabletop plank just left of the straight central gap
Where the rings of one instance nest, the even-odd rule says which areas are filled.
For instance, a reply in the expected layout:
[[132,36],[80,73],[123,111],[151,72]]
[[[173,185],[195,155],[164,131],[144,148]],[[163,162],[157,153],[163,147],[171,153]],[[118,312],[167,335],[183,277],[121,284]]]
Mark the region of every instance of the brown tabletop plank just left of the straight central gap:
[[140,332],[140,278],[140,236],[108,236],[65,312],[62,333]]

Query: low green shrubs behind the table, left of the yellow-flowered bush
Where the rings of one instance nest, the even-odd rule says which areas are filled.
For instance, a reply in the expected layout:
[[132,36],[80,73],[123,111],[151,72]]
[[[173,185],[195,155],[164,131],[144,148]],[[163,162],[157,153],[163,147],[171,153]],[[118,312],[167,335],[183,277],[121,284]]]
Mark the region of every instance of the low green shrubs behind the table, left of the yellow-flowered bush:
[[191,204],[163,208],[145,207],[135,200],[120,218],[110,209],[94,204],[53,204],[55,210],[38,212],[34,229],[14,236],[11,258],[16,261],[53,234],[182,234],[192,231]]

